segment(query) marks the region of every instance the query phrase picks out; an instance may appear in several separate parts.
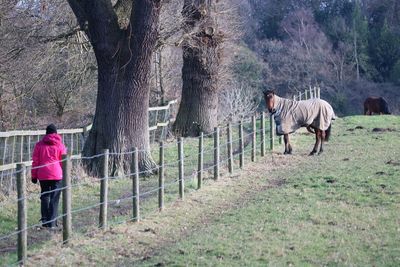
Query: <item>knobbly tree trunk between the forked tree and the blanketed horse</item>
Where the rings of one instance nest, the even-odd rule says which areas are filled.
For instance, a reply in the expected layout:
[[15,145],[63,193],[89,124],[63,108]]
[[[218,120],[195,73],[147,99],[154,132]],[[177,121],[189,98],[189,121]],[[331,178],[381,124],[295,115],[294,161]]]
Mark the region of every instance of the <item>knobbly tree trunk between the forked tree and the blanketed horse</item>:
[[179,136],[197,136],[217,126],[218,68],[221,34],[211,16],[210,2],[185,0],[187,39],[183,40],[182,99],[174,124]]

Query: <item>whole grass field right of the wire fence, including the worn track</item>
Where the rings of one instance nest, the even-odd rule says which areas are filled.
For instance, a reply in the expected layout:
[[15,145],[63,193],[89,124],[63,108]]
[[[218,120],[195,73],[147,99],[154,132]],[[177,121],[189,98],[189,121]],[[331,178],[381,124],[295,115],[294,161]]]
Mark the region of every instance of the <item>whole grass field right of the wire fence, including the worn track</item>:
[[140,223],[64,247],[54,235],[28,265],[399,266],[400,117],[338,119],[324,154],[312,145],[299,132],[293,155],[279,147]]

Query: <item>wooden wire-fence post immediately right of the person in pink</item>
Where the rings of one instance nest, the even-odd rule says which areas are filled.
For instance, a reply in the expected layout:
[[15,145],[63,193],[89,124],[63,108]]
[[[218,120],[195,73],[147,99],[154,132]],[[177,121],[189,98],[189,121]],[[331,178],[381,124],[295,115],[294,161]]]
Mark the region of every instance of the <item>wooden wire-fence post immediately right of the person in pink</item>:
[[72,233],[72,214],[71,214],[71,157],[70,155],[62,156],[63,169],[63,244],[68,243],[70,234]]

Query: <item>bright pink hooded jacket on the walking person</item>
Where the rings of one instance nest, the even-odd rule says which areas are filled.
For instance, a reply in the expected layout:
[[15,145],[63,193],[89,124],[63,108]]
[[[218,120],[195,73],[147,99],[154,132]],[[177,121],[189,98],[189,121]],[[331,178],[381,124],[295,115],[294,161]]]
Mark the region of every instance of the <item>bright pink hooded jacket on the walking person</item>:
[[[36,143],[32,155],[32,179],[62,180],[62,155],[67,149],[61,141],[61,136],[47,134]],[[52,162],[54,162],[52,164]],[[59,163],[58,163],[59,162]],[[37,168],[39,167],[39,168]]]

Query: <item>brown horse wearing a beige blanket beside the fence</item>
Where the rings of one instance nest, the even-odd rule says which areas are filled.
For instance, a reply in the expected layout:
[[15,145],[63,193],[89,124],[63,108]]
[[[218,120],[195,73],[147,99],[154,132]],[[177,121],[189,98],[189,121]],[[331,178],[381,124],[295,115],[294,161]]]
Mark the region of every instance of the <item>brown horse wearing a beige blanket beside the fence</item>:
[[283,135],[285,142],[284,154],[292,154],[289,134],[301,127],[306,127],[315,134],[315,145],[309,155],[323,152],[323,144],[329,140],[332,120],[335,113],[332,106],[319,98],[295,101],[281,98],[274,91],[264,92],[268,111],[274,116],[277,135]]

